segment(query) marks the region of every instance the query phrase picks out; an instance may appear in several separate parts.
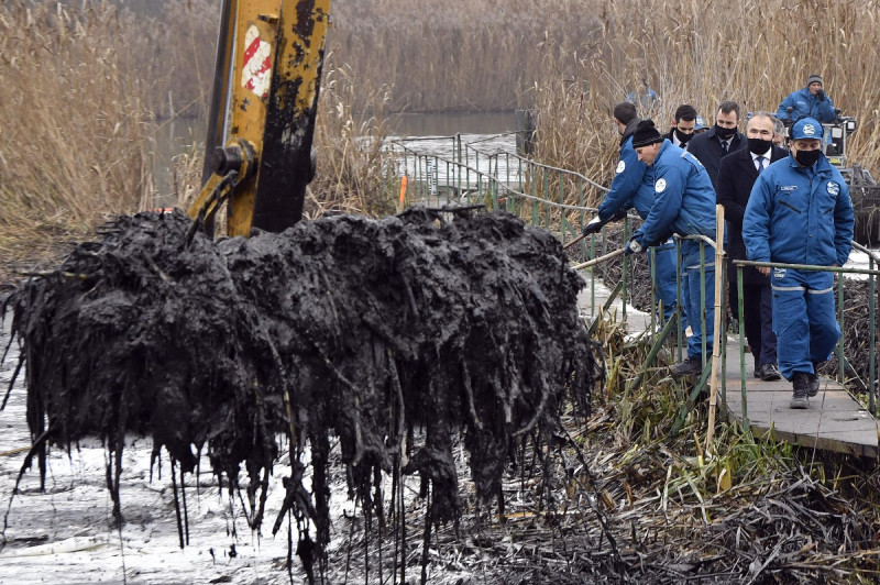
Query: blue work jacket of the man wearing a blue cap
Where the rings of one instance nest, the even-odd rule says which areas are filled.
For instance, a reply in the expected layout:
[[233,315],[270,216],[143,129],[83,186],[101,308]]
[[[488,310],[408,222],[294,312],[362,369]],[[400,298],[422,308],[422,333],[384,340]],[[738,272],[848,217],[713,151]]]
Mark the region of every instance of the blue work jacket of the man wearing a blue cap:
[[802,167],[790,154],[758,176],[743,218],[748,258],[843,266],[853,249],[849,187],[825,155]]

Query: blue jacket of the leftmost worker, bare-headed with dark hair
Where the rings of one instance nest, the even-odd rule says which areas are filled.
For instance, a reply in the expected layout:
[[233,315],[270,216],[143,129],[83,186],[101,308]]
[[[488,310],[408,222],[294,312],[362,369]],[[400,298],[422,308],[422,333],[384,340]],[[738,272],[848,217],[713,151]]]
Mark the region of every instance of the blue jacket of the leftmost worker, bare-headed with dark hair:
[[632,136],[620,145],[620,157],[617,161],[612,186],[598,206],[598,218],[607,221],[619,209],[635,207],[639,217],[648,217],[653,202],[653,179],[648,165],[639,161],[632,148]]

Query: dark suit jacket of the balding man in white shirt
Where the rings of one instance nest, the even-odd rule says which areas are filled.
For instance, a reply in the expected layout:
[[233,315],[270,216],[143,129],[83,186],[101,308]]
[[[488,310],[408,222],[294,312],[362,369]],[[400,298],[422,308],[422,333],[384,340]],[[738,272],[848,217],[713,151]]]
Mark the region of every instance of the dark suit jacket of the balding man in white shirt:
[[[779,146],[770,151],[769,165],[780,158],[788,157],[789,153]],[[765,168],[767,168],[765,166]],[[743,241],[743,217],[746,214],[746,205],[749,202],[751,187],[758,180],[758,169],[748,147],[732,152],[721,161],[718,169],[718,184],[715,188],[715,200],[724,206],[724,219],[727,222],[727,256],[733,260],[746,258],[746,244]],[[732,265],[729,277],[736,278],[735,267]],[[767,284],[769,280],[757,269],[747,266],[743,271],[743,282],[748,285]]]

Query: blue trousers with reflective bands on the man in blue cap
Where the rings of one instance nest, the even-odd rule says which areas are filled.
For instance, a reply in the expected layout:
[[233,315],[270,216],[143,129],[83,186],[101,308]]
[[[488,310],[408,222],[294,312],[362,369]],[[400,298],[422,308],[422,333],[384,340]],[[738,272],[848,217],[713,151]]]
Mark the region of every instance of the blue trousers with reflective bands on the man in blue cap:
[[834,274],[773,268],[773,331],[779,372],[814,374],[813,364],[831,357],[840,325],[834,312]]

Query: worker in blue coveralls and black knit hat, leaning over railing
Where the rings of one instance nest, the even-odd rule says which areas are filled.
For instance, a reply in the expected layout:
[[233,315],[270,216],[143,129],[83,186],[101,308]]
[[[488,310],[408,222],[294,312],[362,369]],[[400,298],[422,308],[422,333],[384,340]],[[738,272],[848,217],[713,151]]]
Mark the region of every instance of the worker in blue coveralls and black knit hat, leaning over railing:
[[[652,120],[639,122],[632,133],[632,147],[639,161],[653,172],[653,202],[645,223],[627,242],[625,253],[640,252],[647,246],[666,241],[672,233],[679,235],[715,236],[715,191],[705,167],[700,161],[663,139]],[[688,314],[694,334],[688,339],[688,357],[672,366],[678,376],[703,372],[708,356],[703,352],[712,347],[715,319],[715,254],[705,253],[703,280],[700,271],[700,242],[685,240],[681,246],[685,278],[690,289]],[[701,307],[701,284],[705,283],[706,306]],[[705,314],[705,331],[701,314]]]

